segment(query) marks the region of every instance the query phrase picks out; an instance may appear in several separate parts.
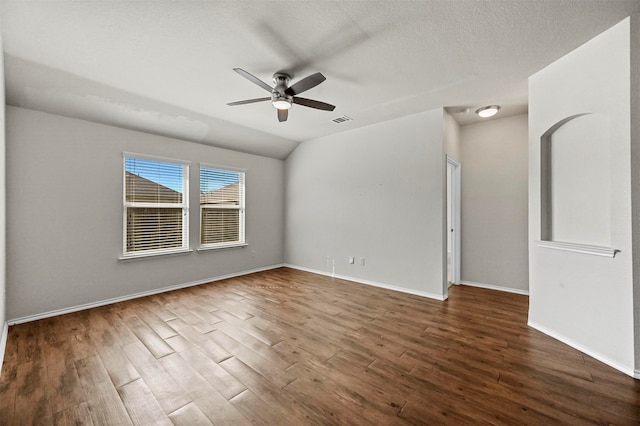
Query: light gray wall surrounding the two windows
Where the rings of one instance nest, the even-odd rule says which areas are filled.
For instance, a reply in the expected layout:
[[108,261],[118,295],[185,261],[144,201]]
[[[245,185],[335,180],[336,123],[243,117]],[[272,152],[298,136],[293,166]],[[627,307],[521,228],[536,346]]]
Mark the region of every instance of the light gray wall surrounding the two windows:
[[[119,261],[123,151],[192,161],[192,248],[198,162],[246,168],[249,246]],[[8,107],[7,177],[10,319],[283,262],[281,160]]]

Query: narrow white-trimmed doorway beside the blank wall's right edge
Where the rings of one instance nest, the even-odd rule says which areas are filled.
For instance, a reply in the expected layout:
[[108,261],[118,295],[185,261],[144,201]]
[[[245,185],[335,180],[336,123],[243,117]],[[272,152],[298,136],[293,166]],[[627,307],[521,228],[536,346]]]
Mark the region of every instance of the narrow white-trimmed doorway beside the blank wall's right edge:
[[445,296],[460,282],[460,163],[447,155],[447,274]]

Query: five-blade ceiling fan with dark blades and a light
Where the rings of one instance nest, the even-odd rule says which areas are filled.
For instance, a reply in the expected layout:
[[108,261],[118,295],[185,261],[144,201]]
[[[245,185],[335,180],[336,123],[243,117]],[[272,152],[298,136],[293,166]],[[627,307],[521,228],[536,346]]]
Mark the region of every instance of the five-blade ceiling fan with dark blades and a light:
[[247,80],[262,87],[264,90],[271,92],[271,96],[231,102],[227,105],[235,106],[252,104],[254,102],[271,101],[271,104],[278,110],[278,121],[280,122],[287,121],[287,117],[289,116],[289,108],[291,108],[292,104],[321,109],[324,111],[333,111],[336,108],[334,105],[330,105],[325,102],[314,101],[313,99],[300,98],[297,96],[302,92],[316,87],[318,84],[326,80],[326,77],[319,72],[303,78],[293,86],[289,86],[289,81],[291,80],[291,76],[289,74],[277,72],[273,74],[273,84],[275,84],[275,87],[271,87],[264,81],[260,80],[258,77],[248,73],[242,68],[234,68],[233,70]]

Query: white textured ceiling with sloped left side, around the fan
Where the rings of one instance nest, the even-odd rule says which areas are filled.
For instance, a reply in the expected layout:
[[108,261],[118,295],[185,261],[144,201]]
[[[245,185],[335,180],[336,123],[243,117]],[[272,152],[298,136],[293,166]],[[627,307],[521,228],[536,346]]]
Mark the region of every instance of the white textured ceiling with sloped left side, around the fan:
[[[7,104],[285,158],[299,142],[438,107],[526,111],[527,77],[638,0],[7,1]],[[267,83],[322,72],[279,123]],[[469,108],[466,114],[455,113]],[[353,121],[331,120],[347,115]]]

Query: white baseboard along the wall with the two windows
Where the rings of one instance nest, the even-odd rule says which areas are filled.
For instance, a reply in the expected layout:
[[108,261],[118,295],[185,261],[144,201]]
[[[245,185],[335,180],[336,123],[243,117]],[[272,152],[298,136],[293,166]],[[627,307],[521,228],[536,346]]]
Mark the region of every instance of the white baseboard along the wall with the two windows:
[[71,307],[63,308],[63,309],[56,309],[56,310],[49,311],[49,312],[43,312],[41,314],[27,315],[27,316],[24,316],[24,317],[14,318],[14,319],[8,320],[7,323],[9,325],[15,325],[15,324],[22,324],[22,323],[30,322],[30,321],[37,321],[37,320],[44,319],[44,318],[50,318],[50,317],[55,317],[55,316],[58,316],[58,315],[69,314],[71,312],[83,311],[85,309],[97,308],[99,306],[111,305],[113,303],[124,302],[124,301],[132,300],[132,299],[138,299],[140,297],[151,296],[151,295],[158,294],[158,293],[165,293],[167,291],[173,291],[173,290],[179,290],[181,288],[193,287],[193,286],[196,286],[196,285],[206,284],[206,283],[210,283],[210,282],[213,282],[213,281],[226,280],[227,278],[239,277],[239,276],[242,276],[242,275],[253,274],[255,272],[268,271],[270,269],[281,268],[283,266],[284,266],[283,264],[271,265],[271,266],[265,266],[263,268],[251,269],[251,270],[248,270],[248,271],[236,272],[236,273],[233,273],[233,274],[221,275],[221,276],[213,277],[213,278],[205,278],[205,279],[202,279],[202,280],[191,281],[191,282],[183,283],[183,284],[176,284],[176,285],[172,285],[172,286],[168,286],[168,287],[162,287],[162,288],[158,288],[158,289],[143,291],[143,292],[140,292],[140,293],[129,294],[129,295],[126,295],[126,296],[114,297],[112,299],[100,300],[98,302],[91,302],[91,303],[85,303],[83,305],[71,306]]

